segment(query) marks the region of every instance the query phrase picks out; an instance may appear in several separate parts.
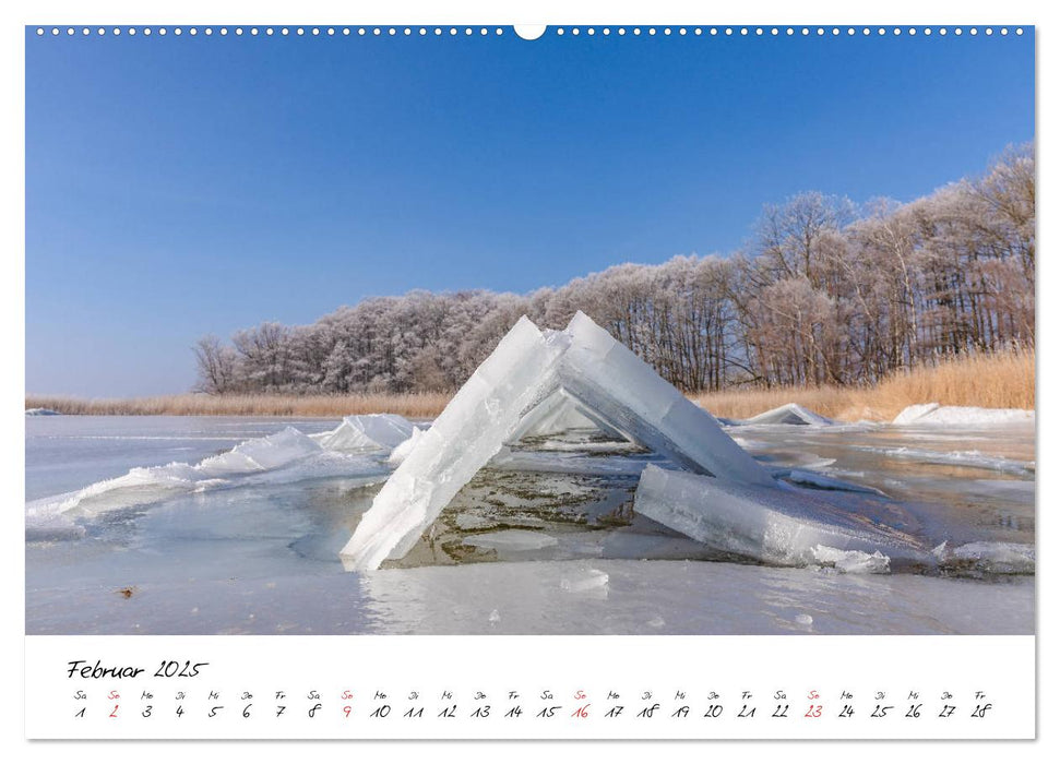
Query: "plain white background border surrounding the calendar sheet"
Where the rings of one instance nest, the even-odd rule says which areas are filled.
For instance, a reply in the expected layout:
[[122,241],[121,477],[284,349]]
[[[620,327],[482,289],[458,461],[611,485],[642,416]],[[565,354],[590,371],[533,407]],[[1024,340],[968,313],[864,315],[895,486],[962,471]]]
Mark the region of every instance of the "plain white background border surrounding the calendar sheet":
[[[862,7],[864,8],[864,7]],[[1052,218],[1050,198],[1050,181],[1057,176],[1057,168],[1049,151],[1051,135],[1048,135],[1052,124],[1055,109],[1049,98],[1049,85],[1052,77],[1052,52],[1050,41],[1055,34],[1052,19],[1044,10],[1044,3],[1020,2],[1010,0],[1005,3],[969,1],[958,7],[936,8],[922,1],[895,0],[885,4],[872,4],[866,10],[856,8],[849,2],[758,2],[714,4],[694,2],[675,2],[668,0],[653,0],[646,2],[572,2],[571,0],[540,0],[538,2],[498,3],[451,1],[446,3],[428,2],[389,2],[389,3],[352,3],[352,2],[314,2],[302,0],[299,3],[257,2],[257,3],[219,3],[189,0],[182,3],[142,3],[142,2],[38,2],[22,3],[5,7],[3,10],[3,39],[0,50],[4,57],[4,75],[2,77],[3,97],[3,204],[0,214],[3,215],[2,231],[5,238],[4,277],[2,279],[3,299],[0,310],[4,311],[3,325],[4,347],[9,356],[15,359],[14,368],[7,369],[2,377],[4,391],[4,407],[2,409],[4,480],[3,490],[8,501],[8,512],[3,539],[9,545],[5,554],[0,558],[7,561],[4,573],[5,614],[8,628],[4,633],[4,655],[9,666],[5,692],[2,700],[2,718],[4,720],[5,752],[14,757],[32,756],[34,761],[70,761],[87,757],[106,757],[111,761],[179,761],[189,756],[203,757],[212,761],[215,757],[246,757],[248,755],[263,761],[297,761],[306,756],[342,755],[357,757],[436,757],[436,756],[467,756],[481,757],[514,757],[516,761],[558,757],[564,759],[608,759],[616,761],[643,761],[659,755],[683,759],[690,756],[747,756],[747,743],[712,744],[701,748],[696,743],[549,743],[541,745],[504,745],[503,743],[406,743],[397,747],[394,743],[358,744],[355,748],[336,747],[334,743],[199,743],[194,745],[153,745],[151,743],[83,743],[63,744],[33,744],[20,741],[23,738],[23,685],[22,672],[19,670],[20,656],[23,654],[24,630],[22,613],[24,613],[24,536],[22,532],[23,505],[23,425],[22,398],[24,396],[22,368],[23,354],[23,255],[24,255],[24,162],[23,162],[23,129],[24,129],[24,24],[80,24],[80,23],[122,23],[122,24],[174,24],[182,21],[194,23],[226,23],[252,21],[255,24],[267,23],[299,23],[299,24],[445,24],[445,23],[479,23],[479,24],[511,24],[520,23],[550,23],[550,24],[1038,24],[1038,144],[1046,151],[1039,150],[1039,172],[1045,181],[1040,186],[1045,190],[1039,194],[1041,210],[1040,232],[1049,244],[1049,227]],[[529,45],[529,44],[528,44]],[[1052,131],[1056,132],[1056,131]],[[1043,140],[1045,138],[1045,140]],[[1051,218],[1051,219],[1050,219]],[[1039,295],[1049,295],[1050,287],[1056,284],[1055,265],[1050,258],[1045,258],[1040,264]],[[1038,336],[1039,389],[1048,390],[1049,382],[1055,379],[1057,350],[1052,348],[1052,332],[1056,325],[1056,311],[1048,300],[1039,302],[1038,321],[1044,331]],[[1055,385],[1053,385],[1055,386]],[[1053,404],[1047,395],[1038,404],[1039,423],[1039,464],[1045,465],[1038,471],[1039,506],[1050,508],[1057,497],[1053,488],[1051,470],[1048,468],[1052,449]],[[1038,602],[1039,608],[1038,636],[1039,645],[1052,636],[1055,617],[1048,602],[1055,587],[1053,566],[1050,563],[1048,550],[1051,549],[1050,537],[1053,521],[1049,512],[1040,513],[1037,527],[1039,529],[1039,564],[1038,564]],[[1046,553],[1043,553],[1046,552]],[[999,659],[1003,659],[999,656]],[[1049,740],[1056,738],[1052,715],[1056,704],[1052,701],[1055,685],[1051,679],[1055,658],[1048,647],[1039,648],[1039,725],[1040,738]],[[945,748],[942,748],[944,745]],[[757,747],[755,756],[784,761],[820,761],[826,756],[834,761],[891,761],[895,757],[914,757],[914,761],[928,756],[969,760],[996,760],[1005,756],[1020,759],[1038,759],[1046,753],[1040,742],[1034,747],[1019,745],[1011,748],[1000,744],[982,743],[921,743],[921,744],[859,744],[859,743],[818,743],[818,744],[787,744],[764,743]],[[12,761],[17,759],[12,759]]]

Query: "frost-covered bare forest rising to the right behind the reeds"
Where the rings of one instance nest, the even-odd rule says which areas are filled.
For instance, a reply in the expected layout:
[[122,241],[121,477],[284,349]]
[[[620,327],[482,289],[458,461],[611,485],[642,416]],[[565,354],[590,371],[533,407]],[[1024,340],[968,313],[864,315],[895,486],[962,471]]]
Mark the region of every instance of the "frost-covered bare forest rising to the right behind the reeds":
[[528,295],[412,291],[305,326],[201,338],[206,393],[443,392],[526,314],[576,310],[684,391],[851,385],[969,351],[1034,344],[1035,158],[900,204],[820,192],[766,205],[727,256],[627,263]]

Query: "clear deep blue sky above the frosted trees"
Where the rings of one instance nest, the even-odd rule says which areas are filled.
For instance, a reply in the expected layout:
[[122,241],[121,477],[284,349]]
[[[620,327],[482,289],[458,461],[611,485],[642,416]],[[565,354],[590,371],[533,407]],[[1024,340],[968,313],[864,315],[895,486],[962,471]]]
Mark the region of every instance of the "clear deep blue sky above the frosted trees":
[[26,33],[26,389],[413,288],[729,252],[802,190],[910,200],[1034,139],[1016,37]]

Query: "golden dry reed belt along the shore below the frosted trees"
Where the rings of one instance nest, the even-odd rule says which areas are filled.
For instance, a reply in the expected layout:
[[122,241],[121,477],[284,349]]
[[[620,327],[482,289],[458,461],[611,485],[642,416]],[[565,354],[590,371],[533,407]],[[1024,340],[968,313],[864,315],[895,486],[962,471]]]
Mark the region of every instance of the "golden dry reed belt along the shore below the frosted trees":
[[[948,406],[1034,408],[1034,350],[1013,349],[941,360],[890,377],[870,387],[731,389],[691,397],[719,417],[746,419],[786,403],[798,403],[834,419],[889,421],[915,403]],[[60,414],[337,417],[391,413],[413,419],[438,416],[444,393],[357,395],[164,395],[146,398],[82,399],[27,395],[26,408]]]

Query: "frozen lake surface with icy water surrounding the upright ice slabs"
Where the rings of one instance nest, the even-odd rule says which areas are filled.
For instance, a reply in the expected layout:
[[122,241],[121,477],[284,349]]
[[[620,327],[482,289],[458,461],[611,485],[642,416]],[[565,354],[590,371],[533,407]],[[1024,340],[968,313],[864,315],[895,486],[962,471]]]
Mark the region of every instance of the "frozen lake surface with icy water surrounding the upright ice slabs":
[[[652,455],[577,438],[514,451],[401,563],[347,573],[338,551],[392,469],[382,457],[257,470],[269,441],[235,452],[255,470],[230,473],[248,439],[297,446],[337,425],[27,417],[27,633],[1034,632],[1034,575],[1009,574],[997,553],[1034,544],[1031,423],[728,428],[771,468],[882,491],[866,506],[926,542],[992,550],[944,575],[720,554],[632,515]],[[213,471],[187,466],[211,458]],[[559,458],[581,474],[557,471]]]

